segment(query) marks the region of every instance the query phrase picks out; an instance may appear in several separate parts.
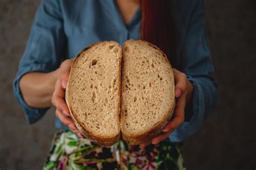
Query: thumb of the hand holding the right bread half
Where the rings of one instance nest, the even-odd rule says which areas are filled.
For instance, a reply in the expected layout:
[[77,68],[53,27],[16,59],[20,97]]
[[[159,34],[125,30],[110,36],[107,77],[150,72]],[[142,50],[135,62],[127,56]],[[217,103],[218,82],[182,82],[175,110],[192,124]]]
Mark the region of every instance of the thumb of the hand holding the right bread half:
[[173,69],[175,80],[175,97],[178,98],[187,89],[187,76],[177,69]]

